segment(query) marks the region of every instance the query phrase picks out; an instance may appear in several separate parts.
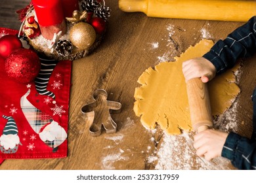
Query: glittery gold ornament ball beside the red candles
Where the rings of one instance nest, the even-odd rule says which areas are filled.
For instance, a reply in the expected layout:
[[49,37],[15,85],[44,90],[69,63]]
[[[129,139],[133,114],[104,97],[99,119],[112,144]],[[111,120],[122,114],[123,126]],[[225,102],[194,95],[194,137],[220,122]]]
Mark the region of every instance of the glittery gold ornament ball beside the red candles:
[[70,29],[70,41],[79,49],[89,48],[95,39],[95,29],[90,24],[79,22]]

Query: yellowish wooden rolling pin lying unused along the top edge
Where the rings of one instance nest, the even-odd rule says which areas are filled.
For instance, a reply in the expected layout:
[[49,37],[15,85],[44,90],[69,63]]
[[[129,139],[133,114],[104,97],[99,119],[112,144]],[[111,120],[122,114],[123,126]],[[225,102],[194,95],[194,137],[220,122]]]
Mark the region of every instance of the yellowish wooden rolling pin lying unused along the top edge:
[[159,18],[246,22],[256,15],[253,0],[119,0],[125,12],[144,12]]

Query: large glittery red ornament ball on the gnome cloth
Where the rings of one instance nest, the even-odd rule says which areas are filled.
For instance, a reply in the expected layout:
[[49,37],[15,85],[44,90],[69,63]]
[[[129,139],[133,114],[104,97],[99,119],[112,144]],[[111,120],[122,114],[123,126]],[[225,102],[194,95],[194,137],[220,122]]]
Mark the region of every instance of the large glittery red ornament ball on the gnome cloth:
[[5,60],[5,72],[20,83],[28,83],[39,74],[41,63],[39,57],[32,50],[20,48],[14,50]]

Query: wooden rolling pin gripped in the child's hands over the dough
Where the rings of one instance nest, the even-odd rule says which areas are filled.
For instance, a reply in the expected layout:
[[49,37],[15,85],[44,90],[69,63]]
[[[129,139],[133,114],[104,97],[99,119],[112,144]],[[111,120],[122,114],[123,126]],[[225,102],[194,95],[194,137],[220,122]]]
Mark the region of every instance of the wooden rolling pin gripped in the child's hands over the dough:
[[193,78],[186,83],[190,120],[194,131],[203,131],[213,125],[207,84],[201,78]]

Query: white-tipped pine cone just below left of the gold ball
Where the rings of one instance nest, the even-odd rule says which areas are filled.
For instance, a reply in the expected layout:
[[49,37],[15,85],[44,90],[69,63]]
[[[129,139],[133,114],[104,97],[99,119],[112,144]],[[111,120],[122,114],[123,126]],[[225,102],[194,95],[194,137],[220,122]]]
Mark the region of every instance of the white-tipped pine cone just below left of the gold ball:
[[60,40],[56,43],[55,51],[59,56],[68,56],[72,53],[73,45],[68,40]]

